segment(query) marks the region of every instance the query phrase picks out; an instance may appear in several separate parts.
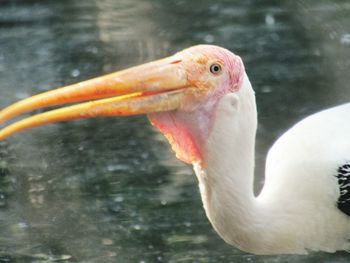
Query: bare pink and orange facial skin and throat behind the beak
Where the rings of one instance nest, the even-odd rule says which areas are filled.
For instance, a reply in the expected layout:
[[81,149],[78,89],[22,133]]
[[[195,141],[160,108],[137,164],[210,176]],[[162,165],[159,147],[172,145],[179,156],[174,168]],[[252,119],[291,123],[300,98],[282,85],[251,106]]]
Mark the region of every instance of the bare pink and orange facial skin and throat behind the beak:
[[[186,96],[180,109],[152,113],[148,117],[168,139],[178,159],[203,166],[203,146],[215,124],[216,106],[225,94],[239,90],[244,66],[240,57],[216,46],[195,46],[175,57],[198,93]],[[220,74],[210,72],[213,63],[222,66]]]

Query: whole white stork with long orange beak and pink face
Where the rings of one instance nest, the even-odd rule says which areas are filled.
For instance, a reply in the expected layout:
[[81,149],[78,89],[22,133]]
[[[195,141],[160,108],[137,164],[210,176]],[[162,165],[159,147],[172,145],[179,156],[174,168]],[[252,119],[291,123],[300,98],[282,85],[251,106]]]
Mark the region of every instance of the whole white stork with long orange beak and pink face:
[[255,93],[242,59],[223,47],[192,46],[23,99],[0,112],[0,140],[53,122],[136,114],[193,165],[206,216],[228,244],[257,255],[350,250],[350,103],[279,137],[255,195]]

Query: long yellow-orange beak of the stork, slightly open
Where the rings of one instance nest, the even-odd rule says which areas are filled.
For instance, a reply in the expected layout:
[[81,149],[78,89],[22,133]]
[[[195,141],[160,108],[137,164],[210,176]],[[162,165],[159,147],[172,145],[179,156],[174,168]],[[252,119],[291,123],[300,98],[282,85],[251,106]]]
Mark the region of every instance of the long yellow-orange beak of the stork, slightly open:
[[135,115],[170,111],[181,106],[193,90],[178,58],[169,57],[112,73],[16,102],[0,111],[0,125],[25,112],[49,106],[83,102],[10,124],[0,140],[37,126],[97,116]]

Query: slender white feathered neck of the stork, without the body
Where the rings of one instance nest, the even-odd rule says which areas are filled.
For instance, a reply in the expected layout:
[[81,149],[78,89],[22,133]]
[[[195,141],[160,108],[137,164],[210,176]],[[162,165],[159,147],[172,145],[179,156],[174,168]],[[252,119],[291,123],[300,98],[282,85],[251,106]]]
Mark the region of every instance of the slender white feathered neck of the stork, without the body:
[[261,222],[253,193],[257,111],[247,75],[237,93],[220,100],[216,113],[202,151],[205,167],[194,169],[215,230],[226,242],[249,251],[261,243]]

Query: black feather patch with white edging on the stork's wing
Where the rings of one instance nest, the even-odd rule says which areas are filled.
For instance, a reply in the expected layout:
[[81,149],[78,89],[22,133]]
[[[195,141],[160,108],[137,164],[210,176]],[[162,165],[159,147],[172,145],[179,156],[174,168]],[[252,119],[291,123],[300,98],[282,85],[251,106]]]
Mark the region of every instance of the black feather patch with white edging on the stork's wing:
[[338,208],[350,216],[350,162],[338,168],[337,178],[340,190]]

